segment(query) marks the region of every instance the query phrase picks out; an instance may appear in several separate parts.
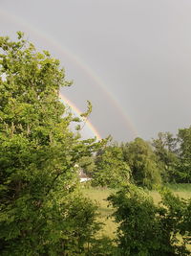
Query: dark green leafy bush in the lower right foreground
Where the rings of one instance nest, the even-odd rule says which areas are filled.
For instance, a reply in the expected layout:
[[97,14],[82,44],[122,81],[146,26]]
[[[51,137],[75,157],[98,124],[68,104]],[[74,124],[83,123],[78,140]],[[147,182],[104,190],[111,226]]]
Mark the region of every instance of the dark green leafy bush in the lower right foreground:
[[190,255],[185,245],[190,235],[189,200],[164,190],[162,206],[155,205],[151,197],[134,185],[124,187],[108,199],[116,209],[120,255]]

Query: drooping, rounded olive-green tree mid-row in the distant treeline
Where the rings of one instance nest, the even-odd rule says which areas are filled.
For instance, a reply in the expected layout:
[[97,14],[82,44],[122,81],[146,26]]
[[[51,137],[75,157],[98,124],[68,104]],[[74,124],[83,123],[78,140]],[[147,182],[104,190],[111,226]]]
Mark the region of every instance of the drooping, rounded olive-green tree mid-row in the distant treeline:
[[125,154],[133,180],[138,186],[151,189],[160,184],[161,177],[157,158],[149,143],[141,138],[136,138],[135,141],[126,144]]

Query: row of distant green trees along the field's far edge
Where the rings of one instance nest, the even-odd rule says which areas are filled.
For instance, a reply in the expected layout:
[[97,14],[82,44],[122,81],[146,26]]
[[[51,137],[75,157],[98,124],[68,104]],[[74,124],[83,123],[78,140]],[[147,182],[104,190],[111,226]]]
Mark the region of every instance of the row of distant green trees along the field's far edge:
[[159,132],[149,142],[110,140],[95,155],[82,158],[80,166],[97,186],[114,188],[131,182],[152,189],[161,183],[190,183],[191,127],[179,129],[177,136]]

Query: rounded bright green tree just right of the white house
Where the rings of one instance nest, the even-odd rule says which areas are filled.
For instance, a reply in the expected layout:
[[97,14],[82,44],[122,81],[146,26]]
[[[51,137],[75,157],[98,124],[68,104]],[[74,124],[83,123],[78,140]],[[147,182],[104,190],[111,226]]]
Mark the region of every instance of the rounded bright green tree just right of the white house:
[[114,188],[129,182],[130,176],[130,168],[119,147],[107,146],[97,153],[93,184]]

